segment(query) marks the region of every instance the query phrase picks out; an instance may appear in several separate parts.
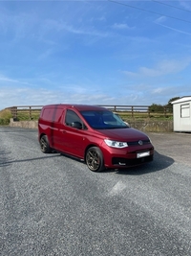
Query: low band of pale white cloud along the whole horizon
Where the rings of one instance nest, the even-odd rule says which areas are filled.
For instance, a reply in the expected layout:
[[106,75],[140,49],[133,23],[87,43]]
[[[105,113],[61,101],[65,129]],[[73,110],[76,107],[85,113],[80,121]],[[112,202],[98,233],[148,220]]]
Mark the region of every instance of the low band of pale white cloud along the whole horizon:
[[[140,89],[141,87],[141,89]],[[86,88],[80,91],[65,88],[14,87],[0,85],[0,110],[13,105],[87,104],[87,105],[165,105],[174,96],[189,95],[190,85],[160,86],[132,84],[118,92],[105,92]],[[142,89],[144,88],[144,89]]]

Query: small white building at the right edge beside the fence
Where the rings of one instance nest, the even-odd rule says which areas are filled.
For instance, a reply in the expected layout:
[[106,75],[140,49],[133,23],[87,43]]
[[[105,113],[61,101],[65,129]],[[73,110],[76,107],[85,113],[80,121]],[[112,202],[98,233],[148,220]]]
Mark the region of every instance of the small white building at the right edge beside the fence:
[[191,132],[191,96],[171,102],[173,105],[174,131]]

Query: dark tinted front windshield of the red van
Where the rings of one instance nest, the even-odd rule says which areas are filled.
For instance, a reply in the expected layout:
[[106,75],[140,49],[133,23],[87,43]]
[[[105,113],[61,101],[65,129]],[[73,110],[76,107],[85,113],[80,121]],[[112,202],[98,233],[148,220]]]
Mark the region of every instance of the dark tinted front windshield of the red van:
[[129,128],[118,115],[111,111],[85,110],[80,113],[92,128]]

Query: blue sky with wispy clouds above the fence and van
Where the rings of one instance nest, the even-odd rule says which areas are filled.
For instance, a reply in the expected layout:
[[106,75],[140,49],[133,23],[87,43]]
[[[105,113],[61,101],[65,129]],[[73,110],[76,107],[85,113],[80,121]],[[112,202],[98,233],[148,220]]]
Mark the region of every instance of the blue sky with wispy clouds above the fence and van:
[[0,109],[191,95],[191,1],[0,1]]

